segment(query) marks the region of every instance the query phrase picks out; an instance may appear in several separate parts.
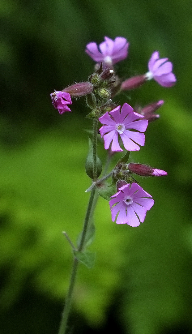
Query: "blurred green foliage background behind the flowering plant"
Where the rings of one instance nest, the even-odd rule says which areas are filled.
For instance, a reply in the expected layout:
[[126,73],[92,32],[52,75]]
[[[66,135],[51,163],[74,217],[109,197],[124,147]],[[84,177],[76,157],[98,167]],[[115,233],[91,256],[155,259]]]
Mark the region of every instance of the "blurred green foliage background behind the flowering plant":
[[[155,205],[138,228],[111,221],[100,198],[95,213],[95,268],[80,266],[73,333],[191,333],[192,325],[192,15],[191,1],[0,1],[0,333],[55,334],[82,228],[90,179],[83,99],[62,116],[49,94],[85,81],[90,41],[130,42],[117,64],[127,78],[147,71],[154,50],[174,64],[177,84],[154,80],[117,101],[165,100],[135,162],[168,172],[137,178]],[[102,160],[105,152],[99,147]]]

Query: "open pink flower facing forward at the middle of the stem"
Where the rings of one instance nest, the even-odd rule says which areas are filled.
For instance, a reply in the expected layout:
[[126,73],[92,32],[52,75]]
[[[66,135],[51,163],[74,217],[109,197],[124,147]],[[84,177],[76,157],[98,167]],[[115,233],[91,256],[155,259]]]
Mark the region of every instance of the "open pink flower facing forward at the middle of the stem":
[[[118,142],[118,135],[120,135],[126,150],[139,151],[140,147],[137,144],[141,146],[145,144],[143,132],[147,129],[148,121],[141,119],[144,116],[135,113],[127,103],[124,103],[121,114],[120,109],[121,106],[118,106],[99,118],[99,121],[105,124],[100,128],[101,137],[104,138],[104,147],[108,150],[112,142],[112,151],[123,151]],[[131,131],[132,129],[140,132]]]

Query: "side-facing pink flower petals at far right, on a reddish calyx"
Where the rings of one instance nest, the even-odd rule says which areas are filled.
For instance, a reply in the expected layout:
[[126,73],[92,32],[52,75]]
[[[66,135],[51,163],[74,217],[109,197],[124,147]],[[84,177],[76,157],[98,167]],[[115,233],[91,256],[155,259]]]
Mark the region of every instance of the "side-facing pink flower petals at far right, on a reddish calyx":
[[172,73],[173,64],[168,58],[159,59],[159,52],[155,51],[148,62],[149,72],[146,73],[148,80],[154,78],[163,87],[172,87],[176,77]]

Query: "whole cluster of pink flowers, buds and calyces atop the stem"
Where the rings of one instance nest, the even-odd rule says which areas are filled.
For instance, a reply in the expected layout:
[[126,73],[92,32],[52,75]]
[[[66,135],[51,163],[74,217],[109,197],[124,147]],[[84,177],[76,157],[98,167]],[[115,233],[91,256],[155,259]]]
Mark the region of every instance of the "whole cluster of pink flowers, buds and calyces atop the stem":
[[[127,103],[121,107],[113,99],[121,92],[136,89],[150,79],[154,79],[163,87],[172,87],[176,83],[176,77],[172,72],[173,65],[168,58],[160,58],[159,52],[155,51],[149,59],[148,72],[122,80],[116,75],[114,65],[128,56],[128,48],[129,43],[124,37],[116,37],[115,40],[112,40],[106,36],[105,41],[99,46],[95,42],[88,43],[85,52],[95,61],[94,73],[89,76],[87,81],[75,83],[62,91],[55,91],[50,96],[52,104],[59,114],[71,111],[68,107],[72,104],[71,97],[84,96],[87,107],[91,109],[87,117],[93,120],[97,119],[97,122],[102,124],[97,128],[97,131],[104,141],[104,148],[108,151],[108,155],[112,156],[116,152],[128,151],[110,174],[112,175],[111,187],[105,187],[101,179],[97,180],[102,165],[99,167],[101,161],[94,151],[95,148],[91,146],[91,142],[89,142],[86,171],[88,170],[87,175],[94,181],[92,186],[100,186],[98,192],[104,198],[109,199],[111,189],[116,188],[115,195],[115,191],[110,193],[112,199],[109,204],[112,220],[115,221],[117,217],[117,224],[139,226],[140,222],[144,221],[147,210],[153,206],[154,200],[149,193],[142,189],[132,174],[164,176],[167,175],[167,172],[144,164],[127,162],[130,151],[139,151],[140,146],[145,145],[144,132],[149,122],[160,117],[155,112],[163,105],[164,101],[152,102],[143,108],[132,108]],[[93,133],[94,142],[96,142],[97,131],[95,134]],[[97,162],[95,162],[96,160]],[[95,164],[96,170],[94,169]]]

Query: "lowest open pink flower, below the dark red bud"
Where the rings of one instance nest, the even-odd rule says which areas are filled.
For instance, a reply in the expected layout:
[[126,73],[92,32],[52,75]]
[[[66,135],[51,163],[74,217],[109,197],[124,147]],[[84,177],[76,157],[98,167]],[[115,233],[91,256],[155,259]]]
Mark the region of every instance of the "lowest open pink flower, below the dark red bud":
[[111,197],[114,197],[109,202],[112,221],[115,221],[119,213],[117,224],[139,226],[140,222],[144,222],[147,210],[150,210],[154,204],[152,196],[137,183],[124,185]]

